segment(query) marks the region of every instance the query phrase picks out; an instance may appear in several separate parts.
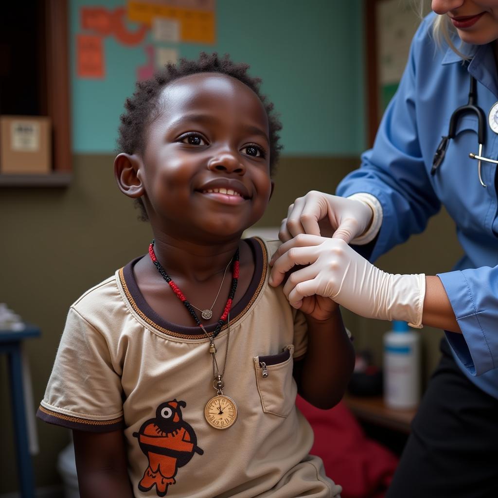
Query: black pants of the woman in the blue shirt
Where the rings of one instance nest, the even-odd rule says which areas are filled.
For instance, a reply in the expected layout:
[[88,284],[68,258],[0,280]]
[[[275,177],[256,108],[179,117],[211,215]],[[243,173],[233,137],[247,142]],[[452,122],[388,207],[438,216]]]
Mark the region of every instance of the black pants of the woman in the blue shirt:
[[498,498],[498,400],[441,352],[386,498]]

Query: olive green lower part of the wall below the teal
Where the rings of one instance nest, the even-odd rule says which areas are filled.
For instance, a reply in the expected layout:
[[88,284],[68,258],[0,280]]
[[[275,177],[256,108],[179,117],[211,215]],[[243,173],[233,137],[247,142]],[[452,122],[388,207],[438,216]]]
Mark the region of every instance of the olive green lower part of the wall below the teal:
[[[76,155],[74,178],[67,189],[0,190],[0,302],[6,302],[26,321],[40,326],[42,337],[26,341],[34,400],[43,396],[70,304],[85,290],[112,274],[150,240],[146,223],[136,220],[132,203],[117,189],[111,155]],[[358,165],[356,158],[284,157],[276,187],[259,226],[277,226],[287,206],[298,196],[317,189],[333,192],[343,176]],[[453,225],[438,216],[423,236],[392,250],[379,260],[394,272],[449,269],[459,254]],[[355,345],[371,347],[381,358],[381,335],[389,323],[360,319],[346,312],[356,336]],[[441,333],[423,330],[427,367],[437,361]],[[6,362],[0,360],[0,427],[2,476],[15,476],[15,460]],[[34,458],[37,486],[59,482],[57,454],[69,432],[37,421],[40,454]],[[1,479],[0,493],[14,491],[15,479]]]

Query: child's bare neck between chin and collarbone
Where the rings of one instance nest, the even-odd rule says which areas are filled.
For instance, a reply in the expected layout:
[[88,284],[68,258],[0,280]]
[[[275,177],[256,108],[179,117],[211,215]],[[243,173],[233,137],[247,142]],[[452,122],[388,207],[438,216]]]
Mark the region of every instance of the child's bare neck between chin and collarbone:
[[240,238],[219,244],[199,245],[156,235],[154,252],[166,272],[174,279],[181,276],[203,282],[224,271],[239,246]]

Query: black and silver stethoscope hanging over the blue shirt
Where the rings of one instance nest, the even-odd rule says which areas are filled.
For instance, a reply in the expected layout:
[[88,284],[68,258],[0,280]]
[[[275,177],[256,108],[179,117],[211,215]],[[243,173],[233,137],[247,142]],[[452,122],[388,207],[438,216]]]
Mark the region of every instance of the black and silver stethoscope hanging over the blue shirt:
[[[479,182],[483,187],[486,187],[486,183],[483,181],[483,177],[481,174],[481,161],[492,162],[494,164],[498,164],[498,161],[495,159],[490,159],[488,157],[483,157],[483,145],[484,145],[484,134],[486,131],[485,121],[486,116],[484,111],[476,105],[477,100],[477,90],[476,90],[476,79],[474,76],[470,77],[470,90],[469,90],[469,102],[467,105],[459,107],[454,111],[450,118],[450,127],[448,130],[448,135],[443,136],[439,145],[437,146],[436,153],[434,154],[434,159],[432,160],[432,168],[431,175],[434,175],[443,162],[444,155],[446,153],[446,148],[448,147],[448,142],[450,138],[455,138],[455,132],[457,129],[457,123],[460,117],[465,113],[474,113],[477,115],[477,138],[479,142],[479,154],[474,154],[472,152],[469,153],[469,157],[472,159],[477,159],[477,170],[479,174]],[[498,102],[493,105],[490,110],[490,114],[488,116],[488,123],[491,129],[498,133]]]

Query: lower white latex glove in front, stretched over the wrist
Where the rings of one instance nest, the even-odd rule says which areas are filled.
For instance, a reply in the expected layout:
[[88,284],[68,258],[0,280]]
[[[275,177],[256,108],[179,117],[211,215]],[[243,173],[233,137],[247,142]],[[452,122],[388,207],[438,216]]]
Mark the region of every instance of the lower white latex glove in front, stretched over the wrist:
[[270,262],[270,285],[277,286],[294,265],[283,287],[290,304],[300,308],[306,296],[329,297],[357,315],[403,320],[421,328],[425,275],[393,275],[380,270],[341,239],[298,235],[282,244]]

